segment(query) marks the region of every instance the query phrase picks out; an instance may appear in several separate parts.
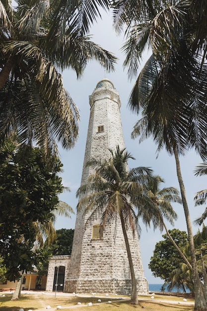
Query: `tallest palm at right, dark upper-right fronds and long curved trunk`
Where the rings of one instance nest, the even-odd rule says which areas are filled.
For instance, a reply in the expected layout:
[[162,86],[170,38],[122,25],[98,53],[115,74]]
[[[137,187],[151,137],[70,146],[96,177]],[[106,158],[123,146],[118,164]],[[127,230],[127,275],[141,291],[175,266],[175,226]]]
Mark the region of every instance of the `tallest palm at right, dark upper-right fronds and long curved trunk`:
[[[129,100],[130,108],[143,117],[134,127],[140,141],[152,136],[157,152],[164,147],[175,156],[191,249],[195,310],[206,310],[196,263],[192,224],[182,179],[179,156],[190,148],[206,158],[206,62],[207,36],[203,29],[205,1],[117,1],[114,21],[126,30],[123,46],[129,76],[138,74],[142,52],[152,55],[140,72]],[[201,15],[200,15],[201,14]],[[125,26],[125,28],[124,28]]]

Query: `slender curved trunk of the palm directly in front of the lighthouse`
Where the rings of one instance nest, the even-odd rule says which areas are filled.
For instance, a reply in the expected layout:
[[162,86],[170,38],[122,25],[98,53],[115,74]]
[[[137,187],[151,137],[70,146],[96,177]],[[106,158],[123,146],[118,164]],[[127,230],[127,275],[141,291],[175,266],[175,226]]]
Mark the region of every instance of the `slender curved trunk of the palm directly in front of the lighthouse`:
[[127,231],[126,231],[122,211],[120,213],[120,218],[121,218],[121,223],[122,223],[122,231],[124,234],[125,244],[126,244],[126,248],[127,248],[127,255],[128,255],[128,259],[129,259],[130,273],[131,273],[131,279],[132,279],[131,304],[138,305],[137,280],[136,280],[136,276],[135,276],[135,270],[134,270],[134,265],[133,265],[133,261],[132,261],[132,254],[131,254],[131,250],[130,250],[130,243],[128,240]]

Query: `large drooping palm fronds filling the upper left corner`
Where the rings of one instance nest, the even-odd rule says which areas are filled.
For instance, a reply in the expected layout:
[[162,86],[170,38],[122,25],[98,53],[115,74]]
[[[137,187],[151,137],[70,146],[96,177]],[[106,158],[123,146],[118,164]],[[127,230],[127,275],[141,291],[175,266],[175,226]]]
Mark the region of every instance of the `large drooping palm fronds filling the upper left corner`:
[[46,152],[56,140],[74,146],[79,113],[58,70],[80,77],[90,60],[114,70],[116,58],[88,36],[109,2],[0,0],[0,140],[14,131]]

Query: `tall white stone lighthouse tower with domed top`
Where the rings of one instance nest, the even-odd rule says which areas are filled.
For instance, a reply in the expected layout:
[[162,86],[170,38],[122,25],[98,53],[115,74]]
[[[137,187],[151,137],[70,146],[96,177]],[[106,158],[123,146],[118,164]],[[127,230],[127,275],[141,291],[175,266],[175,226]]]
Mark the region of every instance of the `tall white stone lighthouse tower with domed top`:
[[[93,173],[85,167],[90,158],[109,158],[109,148],[125,148],[120,118],[120,98],[113,83],[99,81],[91,96],[90,119],[85,147],[81,184]],[[101,215],[87,222],[89,215],[77,213],[69,272],[65,292],[129,294],[130,267],[119,217],[101,230]],[[138,236],[128,230],[128,238],[137,278],[138,293],[148,294],[143,275]]]

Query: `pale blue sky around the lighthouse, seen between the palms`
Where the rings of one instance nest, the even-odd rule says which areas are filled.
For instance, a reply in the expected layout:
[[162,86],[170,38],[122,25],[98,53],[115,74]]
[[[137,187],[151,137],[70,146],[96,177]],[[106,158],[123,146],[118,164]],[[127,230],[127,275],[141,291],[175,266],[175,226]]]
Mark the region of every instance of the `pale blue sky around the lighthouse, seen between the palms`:
[[[136,160],[131,160],[129,167],[148,166],[154,170],[155,174],[164,178],[165,183],[163,187],[173,186],[179,188],[176,175],[176,167],[174,157],[168,156],[165,151],[162,151],[158,158],[156,158],[156,146],[150,139],[139,144],[138,139],[131,139],[131,132],[133,126],[138,120],[139,116],[134,115],[128,108],[128,99],[135,80],[129,81],[127,77],[127,70],[123,70],[124,55],[120,51],[123,40],[118,37],[113,30],[112,20],[108,14],[104,14],[102,20],[95,24],[91,29],[93,34],[93,41],[110,52],[113,52],[119,61],[116,65],[116,72],[107,74],[104,69],[95,62],[87,65],[83,77],[76,79],[76,75],[72,71],[65,71],[63,73],[63,81],[65,88],[69,91],[70,96],[76,103],[80,112],[79,123],[79,139],[75,147],[70,151],[59,149],[61,160],[64,164],[64,172],[62,173],[63,183],[68,186],[71,192],[66,192],[60,196],[62,201],[67,202],[75,211],[77,199],[75,192],[80,186],[83,157],[86,144],[88,120],[90,113],[89,95],[92,94],[97,82],[102,78],[108,78],[113,83],[120,94],[121,99],[121,119],[123,125],[123,133],[125,145],[128,152],[130,152]],[[147,55],[144,55],[143,62],[146,61]],[[140,64],[140,70],[143,64]],[[194,196],[197,191],[206,188],[207,177],[195,177],[193,170],[195,166],[202,162],[201,158],[193,151],[181,159],[181,169],[183,179],[186,186],[186,193],[188,197],[189,209],[191,219],[194,221],[204,211],[205,207],[194,207]],[[185,216],[181,205],[174,204],[174,209],[179,218],[175,223],[174,228],[179,230],[186,230]],[[56,222],[56,229],[74,228],[75,215],[71,219],[59,217]],[[148,269],[150,257],[153,255],[154,245],[162,239],[158,230],[146,229],[141,226],[142,232],[140,236],[140,249],[142,255],[142,263],[144,269],[144,276],[149,283],[163,283],[162,280],[154,278],[151,270]],[[168,229],[172,229],[169,225]],[[198,231],[198,227],[193,225],[194,233]]]

